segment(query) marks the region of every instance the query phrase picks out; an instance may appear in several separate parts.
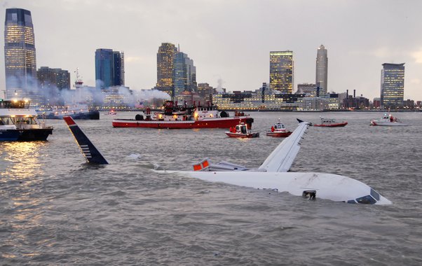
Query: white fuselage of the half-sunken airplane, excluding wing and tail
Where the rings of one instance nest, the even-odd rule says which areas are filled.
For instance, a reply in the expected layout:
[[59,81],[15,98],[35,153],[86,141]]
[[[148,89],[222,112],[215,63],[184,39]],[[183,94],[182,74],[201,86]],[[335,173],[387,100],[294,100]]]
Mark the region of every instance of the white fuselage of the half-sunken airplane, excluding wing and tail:
[[[376,193],[372,188],[355,179],[337,174],[295,173],[295,172],[180,172],[165,171],[211,182],[228,183],[258,189],[271,189],[301,196],[306,190],[314,190],[316,198],[336,202],[360,202],[365,198],[372,204],[391,204],[390,200]],[[375,198],[374,198],[375,197]]]

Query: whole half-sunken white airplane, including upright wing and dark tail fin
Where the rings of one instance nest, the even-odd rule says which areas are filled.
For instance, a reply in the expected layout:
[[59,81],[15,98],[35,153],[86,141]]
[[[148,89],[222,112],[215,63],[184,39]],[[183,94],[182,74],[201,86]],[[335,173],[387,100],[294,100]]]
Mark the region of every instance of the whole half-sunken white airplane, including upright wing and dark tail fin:
[[[66,118],[65,121],[86,160],[95,165],[107,165],[107,160],[83,134],[74,120]],[[348,176],[319,172],[289,172],[294,158],[299,153],[300,141],[304,139],[303,135],[308,125],[306,122],[299,123],[290,137],[283,139],[258,168],[248,168],[225,161],[212,164],[205,158],[193,165],[193,171],[154,171],[240,187],[288,192],[306,200],[321,198],[349,204],[392,204],[373,188]]]

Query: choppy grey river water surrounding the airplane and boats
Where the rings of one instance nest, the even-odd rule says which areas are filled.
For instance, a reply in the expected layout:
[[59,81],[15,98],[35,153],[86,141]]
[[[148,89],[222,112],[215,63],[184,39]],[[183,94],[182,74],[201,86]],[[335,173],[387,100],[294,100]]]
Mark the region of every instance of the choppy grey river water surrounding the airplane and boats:
[[[156,174],[208,157],[249,167],[282,139],[230,139],[224,130],[111,127],[79,121],[110,165],[86,165],[61,120],[47,142],[0,143],[0,265],[421,265],[422,113],[409,127],[370,127],[381,113],[251,113],[264,132],[278,118],[348,121],[310,127],[293,172],[343,174],[390,206],[311,202]],[[135,113],[118,113],[132,118]]]

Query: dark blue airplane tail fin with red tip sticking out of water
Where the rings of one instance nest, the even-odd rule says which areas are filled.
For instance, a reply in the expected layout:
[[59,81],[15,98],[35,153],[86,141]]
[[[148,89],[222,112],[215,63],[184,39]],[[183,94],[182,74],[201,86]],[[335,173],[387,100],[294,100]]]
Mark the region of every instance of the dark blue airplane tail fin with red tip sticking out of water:
[[70,116],[64,116],[63,120],[66,122],[67,127],[69,127],[70,132],[72,132],[72,135],[76,140],[76,143],[78,144],[79,148],[81,148],[81,152],[89,163],[97,165],[109,164],[107,160],[102,157],[100,151],[95,148],[94,144],[82,132],[79,126],[76,125],[73,118],[71,118]]

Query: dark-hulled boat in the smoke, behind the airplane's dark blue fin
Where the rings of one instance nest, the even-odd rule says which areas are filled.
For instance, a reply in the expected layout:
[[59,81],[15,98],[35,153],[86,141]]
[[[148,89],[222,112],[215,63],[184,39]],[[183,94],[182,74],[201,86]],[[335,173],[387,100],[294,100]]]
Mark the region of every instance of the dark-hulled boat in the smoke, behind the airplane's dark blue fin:
[[53,107],[52,109],[38,110],[38,118],[43,119],[63,119],[64,116],[70,116],[73,119],[91,119],[99,120],[100,112],[91,110],[86,104],[76,104],[64,108]]

